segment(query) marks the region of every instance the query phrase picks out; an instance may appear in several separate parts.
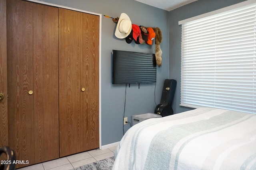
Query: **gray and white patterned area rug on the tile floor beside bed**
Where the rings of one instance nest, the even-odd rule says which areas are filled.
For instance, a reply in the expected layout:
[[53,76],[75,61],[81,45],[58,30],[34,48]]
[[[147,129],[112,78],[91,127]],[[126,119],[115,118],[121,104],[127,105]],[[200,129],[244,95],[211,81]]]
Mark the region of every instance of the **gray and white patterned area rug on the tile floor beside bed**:
[[73,170],[111,170],[114,164],[114,156],[91,164],[74,168]]

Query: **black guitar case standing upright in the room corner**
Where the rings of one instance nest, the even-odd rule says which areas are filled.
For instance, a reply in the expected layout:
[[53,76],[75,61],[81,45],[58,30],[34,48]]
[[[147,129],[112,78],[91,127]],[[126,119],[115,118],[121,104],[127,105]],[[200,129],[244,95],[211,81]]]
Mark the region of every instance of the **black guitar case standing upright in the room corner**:
[[168,116],[173,115],[172,101],[176,90],[177,81],[174,79],[165,79],[160,104],[155,108],[155,113],[158,115]]

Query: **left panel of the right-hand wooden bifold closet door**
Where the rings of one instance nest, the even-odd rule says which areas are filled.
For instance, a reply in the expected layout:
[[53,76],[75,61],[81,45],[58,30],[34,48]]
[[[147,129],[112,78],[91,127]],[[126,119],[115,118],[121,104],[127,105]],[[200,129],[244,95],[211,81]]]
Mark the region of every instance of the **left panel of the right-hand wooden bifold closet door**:
[[59,9],[60,156],[81,152],[81,13]]

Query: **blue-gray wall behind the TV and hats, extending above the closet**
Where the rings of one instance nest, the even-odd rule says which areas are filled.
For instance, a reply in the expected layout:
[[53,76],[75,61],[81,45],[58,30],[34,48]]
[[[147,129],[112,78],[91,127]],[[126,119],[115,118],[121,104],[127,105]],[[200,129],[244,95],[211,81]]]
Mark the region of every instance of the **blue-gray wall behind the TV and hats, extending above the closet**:
[[[123,114],[125,100],[125,85],[112,85],[111,80],[111,53],[112,49],[124,51],[140,51],[154,53],[155,46],[138,45],[132,42],[127,44],[124,39],[114,36],[116,24],[103,15],[113,18],[126,13],[132,23],[146,27],[159,27],[162,30],[163,40],[162,66],[157,68],[156,97],[154,95],[155,84],[130,85],[126,90],[125,117],[132,123],[132,115],[154,112],[156,104],[159,104],[162,95],[164,80],[169,77],[169,19],[168,12],[135,0],[42,0],[52,4],[68,6],[80,10],[86,10],[102,14],[102,48],[101,48],[101,127],[102,145],[115,143],[123,136]],[[156,104],[155,104],[156,101]],[[130,125],[124,126],[124,131]]]

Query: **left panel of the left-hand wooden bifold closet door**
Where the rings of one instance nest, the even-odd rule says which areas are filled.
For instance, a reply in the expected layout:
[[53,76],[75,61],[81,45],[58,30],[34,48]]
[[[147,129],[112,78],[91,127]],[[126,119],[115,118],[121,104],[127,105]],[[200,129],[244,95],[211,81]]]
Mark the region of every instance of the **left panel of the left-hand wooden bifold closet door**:
[[[9,145],[17,160],[34,163],[33,5],[7,1],[7,73]],[[18,167],[17,167],[18,168]]]

